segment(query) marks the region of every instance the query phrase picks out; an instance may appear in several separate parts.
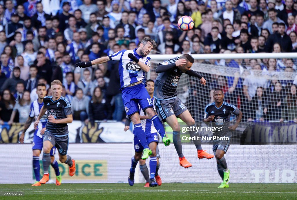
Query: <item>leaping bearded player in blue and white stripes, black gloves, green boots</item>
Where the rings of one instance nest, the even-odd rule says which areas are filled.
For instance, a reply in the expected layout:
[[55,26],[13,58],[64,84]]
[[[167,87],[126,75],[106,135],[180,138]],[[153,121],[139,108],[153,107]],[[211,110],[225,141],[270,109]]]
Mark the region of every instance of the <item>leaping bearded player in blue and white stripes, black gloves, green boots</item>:
[[151,150],[146,141],[146,134],[141,127],[138,104],[154,122],[154,126],[162,136],[165,146],[171,142],[166,137],[162,122],[153,109],[153,102],[145,88],[145,72],[150,70],[151,58],[147,55],[157,44],[153,39],[144,38],[134,50],[121,50],[109,56],[97,58],[89,62],[79,62],[76,67],[86,68],[91,65],[105,63],[107,61],[119,61],[119,75],[121,81],[122,98],[125,111],[134,124],[135,134],[141,145],[144,147],[142,159],[147,159],[151,155]]

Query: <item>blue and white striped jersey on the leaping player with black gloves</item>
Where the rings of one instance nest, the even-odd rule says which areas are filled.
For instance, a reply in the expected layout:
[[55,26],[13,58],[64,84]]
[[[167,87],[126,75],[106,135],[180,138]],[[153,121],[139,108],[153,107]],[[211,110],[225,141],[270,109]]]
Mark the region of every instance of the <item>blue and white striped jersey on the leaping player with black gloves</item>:
[[138,53],[136,53],[136,50],[137,49],[121,50],[108,56],[109,59],[112,61],[119,61],[121,88],[124,88],[127,85],[138,82],[140,80],[143,80],[143,82],[145,82],[145,72],[140,68],[138,64],[128,58],[128,53],[133,53],[140,62],[143,62],[149,67],[151,66],[151,58],[147,56],[142,58],[140,55],[138,55]]

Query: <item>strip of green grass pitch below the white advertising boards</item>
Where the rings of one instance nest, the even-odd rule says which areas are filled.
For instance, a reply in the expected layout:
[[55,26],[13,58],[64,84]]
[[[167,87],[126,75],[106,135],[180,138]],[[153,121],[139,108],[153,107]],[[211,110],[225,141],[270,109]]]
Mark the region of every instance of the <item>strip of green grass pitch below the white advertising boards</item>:
[[[219,184],[163,183],[154,188],[144,184],[1,184],[0,199],[297,199],[297,184],[230,183]],[[4,196],[5,192],[22,192],[23,196]]]

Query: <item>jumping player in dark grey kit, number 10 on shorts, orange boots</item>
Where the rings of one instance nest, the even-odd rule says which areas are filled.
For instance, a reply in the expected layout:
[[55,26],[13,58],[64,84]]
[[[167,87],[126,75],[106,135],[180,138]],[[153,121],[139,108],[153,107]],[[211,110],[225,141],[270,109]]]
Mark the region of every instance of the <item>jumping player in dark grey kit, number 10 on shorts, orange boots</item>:
[[[183,73],[188,74],[189,76],[198,77],[201,84],[206,84],[206,80],[200,74],[191,70],[193,63],[194,58],[189,54],[183,54],[180,57],[175,57],[160,63],[156,69],[158,76],[155,82],[154,90],[157,113],[173,130],[173,144],[179,157],[179,164],[184,168],[191,167],[192,164],[189,163],[183,155],[180,136],[181,127],[176,117],[183,120],[188,126],[195,125],[195,120],[192,118],[187,107],[177,97],[177,85]],[[195,131],[189,131],[189,134],[191,137],[196,135]],[[201,142],[199,140],[195,140],[194,144],[196,146],[199,159],[211,159],[214,157],[214,155],[206,153],[202,149]]]

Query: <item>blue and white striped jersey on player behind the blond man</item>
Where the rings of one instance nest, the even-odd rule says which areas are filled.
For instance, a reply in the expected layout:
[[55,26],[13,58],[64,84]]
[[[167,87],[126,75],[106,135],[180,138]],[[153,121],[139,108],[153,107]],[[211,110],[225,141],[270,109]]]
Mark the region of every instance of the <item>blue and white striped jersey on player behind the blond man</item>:
[[[31,107],[30,107],[30,117],[31,118],[35,117],[35,119],[37,119],[42,106],[43,106],[43,102],[40,104],[40,103],[38,103],[37,100],[33,101],[31,103]],[[47,122],[48,122],[48,111],[46,111],[45,114],[41,117],[41,119],[38,123],[37,129],[34,132],[34,135],[37,135],[42,138],[40,131],[42,128],[45,128],[45,125]]]

